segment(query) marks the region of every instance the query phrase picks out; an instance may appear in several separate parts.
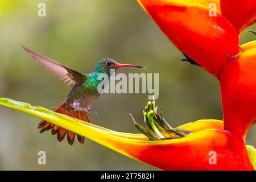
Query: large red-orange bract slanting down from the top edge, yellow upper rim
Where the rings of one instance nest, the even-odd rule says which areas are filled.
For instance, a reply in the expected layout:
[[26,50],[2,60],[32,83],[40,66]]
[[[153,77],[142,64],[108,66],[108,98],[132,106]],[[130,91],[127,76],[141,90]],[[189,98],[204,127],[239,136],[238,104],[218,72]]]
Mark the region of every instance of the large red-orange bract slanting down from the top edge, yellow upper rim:
[[198,1],[140,0],[168,38],[214,76],[228,56],[238,53],[236,29],[222,15],[209,16]]

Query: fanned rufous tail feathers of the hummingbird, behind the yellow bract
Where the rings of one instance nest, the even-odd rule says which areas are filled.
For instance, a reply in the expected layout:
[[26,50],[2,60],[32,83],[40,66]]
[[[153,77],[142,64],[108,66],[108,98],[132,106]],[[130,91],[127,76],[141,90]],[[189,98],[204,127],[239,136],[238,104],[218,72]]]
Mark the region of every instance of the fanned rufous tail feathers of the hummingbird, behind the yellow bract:
[[[80,119],[85,122],[89,122],[89,119],[88,119],[85,111],[73,111],[73,112],[68,111],[67,105],[65,103],[63,103],[59,107],[57,107],[57,109],[55,109],[55,112],[65,114],[65,115]],[[84,144],[84,137],[82,137],[81,135],[73,133],[72,131],[66,130],[60,126],[53,125],[52,123],[44,121],[44,120],[39,123],[38,129],[41,129],[40,133],[44,133],[44,131],[48,131],[48,130],[52,129],[52,135],[57,134],[57,140],[59,142],[61,142],[65,138],[65,135],[67,134],[68,143],[70,145],[72,145],[74,143],[76,136],[77,136],[77,140],[79,140],[79,142],[81,144]]]

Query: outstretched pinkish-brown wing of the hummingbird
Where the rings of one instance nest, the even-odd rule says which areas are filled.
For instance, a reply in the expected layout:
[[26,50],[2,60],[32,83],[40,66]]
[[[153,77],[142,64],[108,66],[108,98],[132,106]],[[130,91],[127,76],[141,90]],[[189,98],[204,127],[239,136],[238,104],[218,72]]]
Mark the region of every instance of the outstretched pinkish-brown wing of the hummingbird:
[[46,56],[31,51],[24,46],[22,46],[22,48],[32,57],[32,59],[36,60],[38,64],[42,65],[47,71],[60,78],[60,80],[64,81],[68,86],[75,86],[85,81],[85,75],[58,63],[55,60],[49,59]]

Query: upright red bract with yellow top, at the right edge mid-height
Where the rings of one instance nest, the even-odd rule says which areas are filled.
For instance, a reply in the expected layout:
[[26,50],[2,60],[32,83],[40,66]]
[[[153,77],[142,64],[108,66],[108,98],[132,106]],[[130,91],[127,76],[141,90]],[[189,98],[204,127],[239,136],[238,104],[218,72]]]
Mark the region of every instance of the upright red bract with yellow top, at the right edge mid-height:
[[245,138],[256,122],[256,42],[242,46],[220,73],[225,129]]

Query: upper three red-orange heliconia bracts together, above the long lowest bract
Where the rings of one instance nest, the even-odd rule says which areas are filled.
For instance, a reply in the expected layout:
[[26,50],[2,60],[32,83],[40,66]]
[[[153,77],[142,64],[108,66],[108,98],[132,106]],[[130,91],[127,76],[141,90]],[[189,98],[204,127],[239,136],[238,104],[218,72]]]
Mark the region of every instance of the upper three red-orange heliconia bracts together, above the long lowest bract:
[[[255,22],[256,1],[138,2],[186,57],[218,78],[225,129],[245,138],[256,121],[256,46],[239,47],[238,40]],[[216,16],[209,14],[210,3],[216,3]]]

